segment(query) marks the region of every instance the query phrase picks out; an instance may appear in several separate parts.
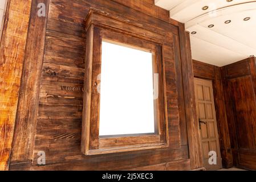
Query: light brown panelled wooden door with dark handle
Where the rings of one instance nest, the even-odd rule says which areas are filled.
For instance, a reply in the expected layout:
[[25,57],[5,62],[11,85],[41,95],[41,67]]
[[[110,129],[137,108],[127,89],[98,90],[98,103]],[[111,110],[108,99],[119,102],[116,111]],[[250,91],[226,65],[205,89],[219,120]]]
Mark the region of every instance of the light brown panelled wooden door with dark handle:
[[[198,125],[200,125],[204,167],[207,170],[217,170],[222,168],[222,163],[212,81],[194,78],[194,88],[196,94]],[[216,152],[217,164],[209,164],[210,151]]]

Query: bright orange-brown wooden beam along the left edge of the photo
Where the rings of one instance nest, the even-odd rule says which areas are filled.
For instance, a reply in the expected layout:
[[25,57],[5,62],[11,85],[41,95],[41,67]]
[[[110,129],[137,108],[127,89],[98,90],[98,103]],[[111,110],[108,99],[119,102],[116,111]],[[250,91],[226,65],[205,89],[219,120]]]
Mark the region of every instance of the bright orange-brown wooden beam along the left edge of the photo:
[[30,7],[31,0],[8,1],[4,20],[0,48],[0,170],[9,169]]

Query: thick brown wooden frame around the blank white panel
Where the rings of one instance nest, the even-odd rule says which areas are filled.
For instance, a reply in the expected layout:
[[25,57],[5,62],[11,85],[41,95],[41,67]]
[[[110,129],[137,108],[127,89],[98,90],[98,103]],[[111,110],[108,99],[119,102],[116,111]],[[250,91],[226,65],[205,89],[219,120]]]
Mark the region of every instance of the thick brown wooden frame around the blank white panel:
[[[99,23],[101,22],[101,23]],[[102,22],[108,22],[113,26],[102,26]],[[121,24],[121,26],[119,26]],[[122,28],[124,27],[124,28]],[[165,101],[165,77],[162,60],[162,41],[157,39],[158,35],[151,32],[150,36],[139,35],[143,33],[141,28],[134,27],[125,22],[117,21],[106,16],[100,11],[91,10],[86,19],[87,30],[87,57],[86,57],[86,84],[84,90],[84,117],[82,130],[82,152],[86,155],[108,154],[112,152],[136,151],[152,148],[168,147],[168,119],[166,117]],[[137,38],[133,38],[136,36]],[[157,42],[152,42],[156,39]],[[153,135],[132,135],[127,137],[113,136],[107,138],[99,137],[99,102],[97,93],[97,75],[101,68],[101,43],[102,41],[121,44],[153,54],[154,73],[159,74],[159,99],[155,102],[156,133]]]

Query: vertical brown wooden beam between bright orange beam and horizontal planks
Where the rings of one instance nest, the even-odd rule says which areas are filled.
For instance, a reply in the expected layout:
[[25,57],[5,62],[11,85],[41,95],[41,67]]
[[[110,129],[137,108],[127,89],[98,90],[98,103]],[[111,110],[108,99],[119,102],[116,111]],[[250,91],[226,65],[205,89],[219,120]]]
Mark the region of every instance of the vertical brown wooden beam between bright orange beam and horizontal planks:
[[[38,4],[46,5],[48,14],[49,1],[32,1],[30,26],[27,34],[25,58],[21,78],[21,92],[17,118],[15,122],[14,141],[11,160],[26,161],[32,159],[32,151],[35,136],[35,122],[38,111],[38,97],[40,77],[42,73],[44,40],[46,35],[46,17],[38,16]],[[30,110],[30,112],[27,112]]]

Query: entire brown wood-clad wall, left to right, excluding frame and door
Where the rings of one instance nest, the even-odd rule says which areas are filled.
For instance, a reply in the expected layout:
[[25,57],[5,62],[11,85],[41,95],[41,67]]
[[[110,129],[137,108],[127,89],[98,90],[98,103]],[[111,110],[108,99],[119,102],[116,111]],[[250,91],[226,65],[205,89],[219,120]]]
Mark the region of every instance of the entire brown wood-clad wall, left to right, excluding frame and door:
[[[194,76],[213,81],[222,163],[256,169],[255,58],[222,68],[193,61],[192,69],[184,24],[169,19],[153,0],[9,2],[0,49],[0,169],[199,169]],[[46,17],[36,15],[40,2],[46,5]],[[91,7],[172,35],[173,52],[165,65],[169,148],[99,156],[80,152],[83,21]],[[46,152],[45,166],[36,164],[38,151]]]

